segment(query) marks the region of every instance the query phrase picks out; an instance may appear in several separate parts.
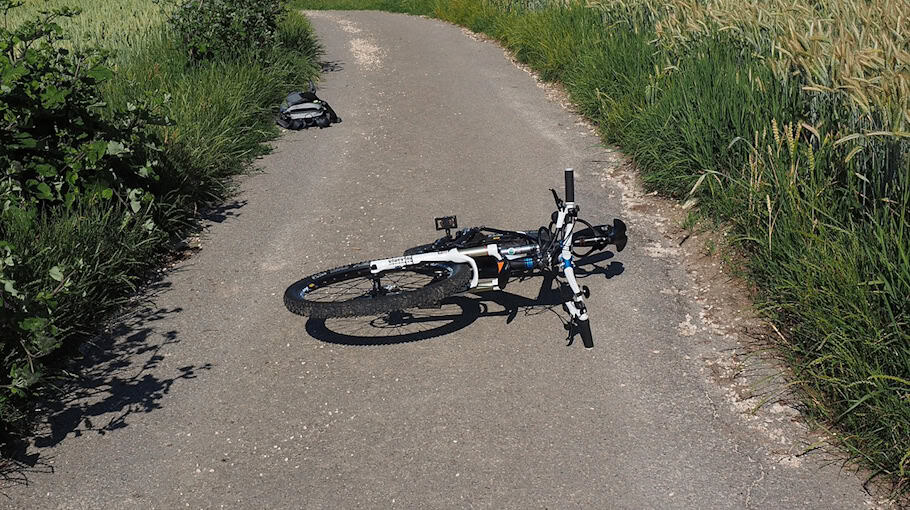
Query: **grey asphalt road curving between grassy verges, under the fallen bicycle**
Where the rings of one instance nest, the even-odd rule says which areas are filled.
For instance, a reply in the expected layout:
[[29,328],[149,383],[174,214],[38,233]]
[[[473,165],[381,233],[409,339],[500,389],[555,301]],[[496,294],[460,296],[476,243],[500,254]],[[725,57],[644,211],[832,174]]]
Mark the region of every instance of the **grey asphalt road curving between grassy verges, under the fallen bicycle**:
[[706,376],[735,346],[678,292],[687,277],[653,224],[590,267],[589,351],[566,346],[534,280],[419,326],[288,313],[294,280],[431,241],[434,216],[545,224],[565,167],[583,217],[623,212],[602,185],[608,151],[497,46],[417,17],[312,19],[319,94],[344,122],[286,133],[201,250],[86,349],[95,364],[51,405],[0,505],[864,506],[854,475],[789,455],[798,441],[772,422],[791,410],[756,426]]

